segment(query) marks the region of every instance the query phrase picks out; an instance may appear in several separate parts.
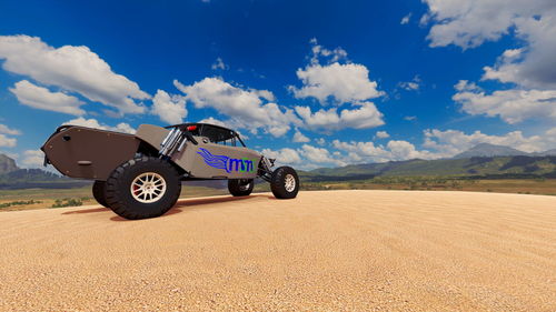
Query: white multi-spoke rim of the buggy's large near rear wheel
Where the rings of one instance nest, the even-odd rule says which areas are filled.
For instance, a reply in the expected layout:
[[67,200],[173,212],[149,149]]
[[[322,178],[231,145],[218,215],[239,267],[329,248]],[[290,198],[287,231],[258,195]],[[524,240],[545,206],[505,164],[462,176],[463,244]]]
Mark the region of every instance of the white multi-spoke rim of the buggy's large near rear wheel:
[[133,199],[138,202],[156,202],[166,193],[166,180],[158,173],[145,172],[133,179],[130,191]]

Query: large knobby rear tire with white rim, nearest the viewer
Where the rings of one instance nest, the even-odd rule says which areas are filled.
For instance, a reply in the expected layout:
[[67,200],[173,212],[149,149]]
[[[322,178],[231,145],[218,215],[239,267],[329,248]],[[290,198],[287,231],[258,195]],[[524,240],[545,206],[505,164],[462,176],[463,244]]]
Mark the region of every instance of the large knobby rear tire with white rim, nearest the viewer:
[[180,191],[180,175],[172,164],[143,155],[110,173],[106,201],[118,215],[139,220],[165,214],[176,204]]

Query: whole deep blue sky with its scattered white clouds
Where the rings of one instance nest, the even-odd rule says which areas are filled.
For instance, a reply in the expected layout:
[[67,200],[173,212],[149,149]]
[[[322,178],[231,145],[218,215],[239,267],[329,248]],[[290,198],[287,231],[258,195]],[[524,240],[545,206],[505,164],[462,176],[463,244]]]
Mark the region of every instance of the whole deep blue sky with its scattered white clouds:
[[302,169],[556,148],[554,1],[2,1],[0,151],[224,123]]

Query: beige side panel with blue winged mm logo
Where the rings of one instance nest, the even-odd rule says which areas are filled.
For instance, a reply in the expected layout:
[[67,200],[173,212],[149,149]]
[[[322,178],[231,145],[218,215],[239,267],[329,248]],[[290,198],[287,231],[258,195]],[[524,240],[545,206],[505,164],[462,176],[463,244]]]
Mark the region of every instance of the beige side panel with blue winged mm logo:
[[172,157],[173,162],[199,179],[254,179],[257,177],[260,154],[240,147],[221,145],[195,137],[199,142],[188,142]]

